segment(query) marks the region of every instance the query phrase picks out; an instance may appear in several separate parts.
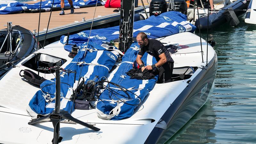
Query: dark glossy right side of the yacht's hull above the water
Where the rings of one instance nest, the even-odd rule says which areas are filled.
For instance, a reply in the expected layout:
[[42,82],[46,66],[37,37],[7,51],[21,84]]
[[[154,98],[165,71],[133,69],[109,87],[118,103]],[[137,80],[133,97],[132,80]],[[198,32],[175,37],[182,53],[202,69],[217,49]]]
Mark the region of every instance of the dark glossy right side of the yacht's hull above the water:
[[158,128],[156,125],[145,144],[164,143],[205,104],[211,95],[217,71],[216,54],[205,69],[189,83],[161,117],[167,124],[166,129]]

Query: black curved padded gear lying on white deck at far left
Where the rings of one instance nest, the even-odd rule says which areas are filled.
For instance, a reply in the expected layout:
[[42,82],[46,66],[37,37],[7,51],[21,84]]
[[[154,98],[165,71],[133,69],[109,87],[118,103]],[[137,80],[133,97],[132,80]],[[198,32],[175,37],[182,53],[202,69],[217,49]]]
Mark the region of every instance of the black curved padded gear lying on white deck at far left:
[[[21,75],[22,71],[24,75]],[[38,76],[36,73],[28,69],[21,70],[20,76],[24,77],[29,83],[34,84],[36,86],[40,86],[40,84],[42,84],[46,80],[43,77]]]

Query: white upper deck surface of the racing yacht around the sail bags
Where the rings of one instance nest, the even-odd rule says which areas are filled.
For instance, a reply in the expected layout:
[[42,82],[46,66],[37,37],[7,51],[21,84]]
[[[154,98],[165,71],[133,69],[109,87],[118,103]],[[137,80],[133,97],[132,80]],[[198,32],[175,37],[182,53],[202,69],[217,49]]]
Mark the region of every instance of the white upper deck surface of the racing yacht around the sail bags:
[[[171,41],[184,46],[183,49],[179,49],[178,52],[171,55],[175,61],[174,68],[198,67],[189,78],[191,83],[193,80],[198,80],[197,76],[204,71],[202,68],[206,65],[207,43],[205,40],[202,39],[204,52],[204,62],[202,62],[200,38],[198,36],[185,32],[159,39],[161,39],[161,42]],[[64,50],[63,44],[60,42],[50,44],[38,52],[66,59],[67,62],[62,66],[63,68],[72,60],[68,57],[68,52]],[[23,81],[19,76],[20,70],[28,69],[22,66],[22,63],[28,60],[29,57],[22,60],[17,65],[18,67],[12,68],[0,81],[0,143],[52,143],[53,126],[51,122],[28,125],[31,117],[27,114],[26,107],[36,91],[39,90],[39,88]],[[216,63],[217,58],[215,51],[208,44],[208,62],[210,61]],[[44,76],[44,74],[40,73],[40,76]],[[45,76],[46,79],[53,78],[52,74],[46,74]],[[171,104],[175,102],[186,87],[190,86],[187,81],[180,80],[166,84],[156,84],[135,114],[124,120],[100,119],[97,117],[95,109],[75,110],[72,113],[73,117],[89,124],[96,124],[95,126],[100,128],[100,131],[94,132],[79,124],[61,123],[60,136],[63,137],[61,143],[145,143],[151,131]],[[201,87],[198,91],[202,92]],[[197,98],[201,97],[200,93],[195,96]],[[207,96],[202,99],[202,104],[207,100]]]

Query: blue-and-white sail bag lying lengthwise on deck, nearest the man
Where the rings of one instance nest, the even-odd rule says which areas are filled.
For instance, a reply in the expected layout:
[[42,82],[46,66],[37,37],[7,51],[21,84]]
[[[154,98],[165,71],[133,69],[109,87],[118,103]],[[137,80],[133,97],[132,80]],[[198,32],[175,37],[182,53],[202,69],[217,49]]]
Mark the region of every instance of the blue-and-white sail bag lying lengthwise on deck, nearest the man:
[[[144,98],[148,95],[148,92],[151,91],[156,84],[158,76],[155,76],[156,79],[139,80],[131,79],[130,76],[126,74],[126,72],[132,69],[132,63],[134,60],[136,60],[139,50],[138,46],[139,45],[137,42],[131,45],[131,47],[124,54],[119,68],[114,70],[108,78],[109,81],[131,90],[132,93],[128,92],[131,99],[122,96],[126,94],[121,89],[118,89],[115,85],[110,84],[109,87],[118,94],[109,94],[107,89],[103,91],[96,107],[98,117],[111,120],[121,120],[131,117],[135,108],[137,108],[140,102],[144,100]],[[143,55],[141,60],[144,61],[145,65],[152,65],[156,63],[156,59],[147,52]]]

